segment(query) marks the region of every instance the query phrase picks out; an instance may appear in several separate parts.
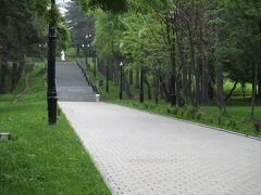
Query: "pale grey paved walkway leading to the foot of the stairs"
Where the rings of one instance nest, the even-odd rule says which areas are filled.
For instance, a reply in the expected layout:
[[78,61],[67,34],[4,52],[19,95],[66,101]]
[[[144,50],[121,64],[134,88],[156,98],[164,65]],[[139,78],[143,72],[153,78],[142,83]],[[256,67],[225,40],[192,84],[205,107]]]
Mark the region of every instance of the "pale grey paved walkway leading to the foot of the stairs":
[[261,194],[261,141],[112,104],[59,104],[113,194]]

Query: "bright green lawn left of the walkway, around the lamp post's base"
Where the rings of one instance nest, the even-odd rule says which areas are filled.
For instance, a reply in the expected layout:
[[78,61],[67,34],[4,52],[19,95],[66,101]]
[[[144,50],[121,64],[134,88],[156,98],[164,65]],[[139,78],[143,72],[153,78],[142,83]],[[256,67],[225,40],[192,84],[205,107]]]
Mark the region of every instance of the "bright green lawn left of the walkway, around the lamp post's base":
[[110,194],[65,117],[47,125],[45,77],[34,73],[16,104],[0,95],[0,132],[12,134],[0,142],[0,194]]

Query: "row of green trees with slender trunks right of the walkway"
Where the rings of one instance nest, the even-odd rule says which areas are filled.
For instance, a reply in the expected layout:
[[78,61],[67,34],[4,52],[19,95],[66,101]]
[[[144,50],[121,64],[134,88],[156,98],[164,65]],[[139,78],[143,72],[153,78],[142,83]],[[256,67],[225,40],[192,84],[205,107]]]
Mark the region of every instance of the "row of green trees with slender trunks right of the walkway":
[[[96,18],[99,68],[134,98],[140,72],[154,99],[197,110],[216,99],[221,113],[237,83],[252,83],[253,115],[261,100],[261,1],[244,0],[78,0]],[[90,11],[90,8],[96,10]],[[99,9],[101,8],[101,9]],[[108,12],[104,12],[108,11]],[[108,66],[108,67],[107,67]],[[224,81],[235,84],[224,94]],[[152,89],[150,89],[152,88]]]

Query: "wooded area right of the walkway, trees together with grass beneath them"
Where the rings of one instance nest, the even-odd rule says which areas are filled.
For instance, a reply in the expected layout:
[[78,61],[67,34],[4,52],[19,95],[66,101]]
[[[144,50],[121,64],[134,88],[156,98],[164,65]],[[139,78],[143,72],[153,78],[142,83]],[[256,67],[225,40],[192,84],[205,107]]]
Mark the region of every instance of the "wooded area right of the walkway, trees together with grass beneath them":
[[[219,127],[246,134],[254,134],[252,130],[260,128],[260,2],[77,2],[77,5],[70,4],[67,13],[74,35],[79,32],[77,38],[72,36],[72,42],[79,51],[86,42],[85,35],[95,35],[90,40],[91,50],[96,51],[102,76],[96,79],[101,91],[105,90],[103,100],[127,102],[137,108],[164,107],[163,113],[174,113],[175,117],[199,118],[198,121],[204,118],[206,121],[200,122],[215,126],[212,121],[216,121]],[[77,16],[70,10],[76,6],[84,10],[86,20],[94,18],[95,24],[91,21],[73,26],[77,21],[72,18]],[[82,31],[83,26],[86,34]],[[84,56],[86,49],[82,49]],[[91,50],[87,52],[89,57],[92,57]],[[77,54],[80,56],[79,52]],[[115,94],[119,93],[121,62],[126,95],[119,101]],[[90,69],[89,64],[91,62],[86,65]],[[146,101],[138,104],[142,95]]]

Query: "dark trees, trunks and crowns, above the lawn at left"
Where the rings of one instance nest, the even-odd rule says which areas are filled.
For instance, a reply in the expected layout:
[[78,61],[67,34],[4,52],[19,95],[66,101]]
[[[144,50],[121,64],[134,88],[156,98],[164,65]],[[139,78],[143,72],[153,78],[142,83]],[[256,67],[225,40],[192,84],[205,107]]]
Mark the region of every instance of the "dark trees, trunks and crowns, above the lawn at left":
[[[0,0],[0,93],[16,88],[28,58],[46,58],[49,0]],[[69,29],[58,10],[55,21],[60,48],[69,43]]]

